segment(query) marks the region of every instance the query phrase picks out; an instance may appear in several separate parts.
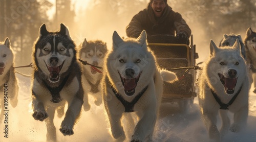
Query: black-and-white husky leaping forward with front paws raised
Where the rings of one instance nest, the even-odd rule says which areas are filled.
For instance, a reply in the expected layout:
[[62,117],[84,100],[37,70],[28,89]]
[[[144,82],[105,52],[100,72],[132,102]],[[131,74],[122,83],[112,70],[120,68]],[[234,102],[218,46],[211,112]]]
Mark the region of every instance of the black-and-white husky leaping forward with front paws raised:
[[54,113],[64,114],[60,126],[63,135],[74,134],[73,126],[77,122],[83,104],[81,68],[76,59],[75,43],[68,28],[60,24],[60,31],[49,32],[43,24],[39,37],[34,43],[32,73],[32,116],[44,121],[47,127],[47,141],[56,141],[56,128],[53,123]]

